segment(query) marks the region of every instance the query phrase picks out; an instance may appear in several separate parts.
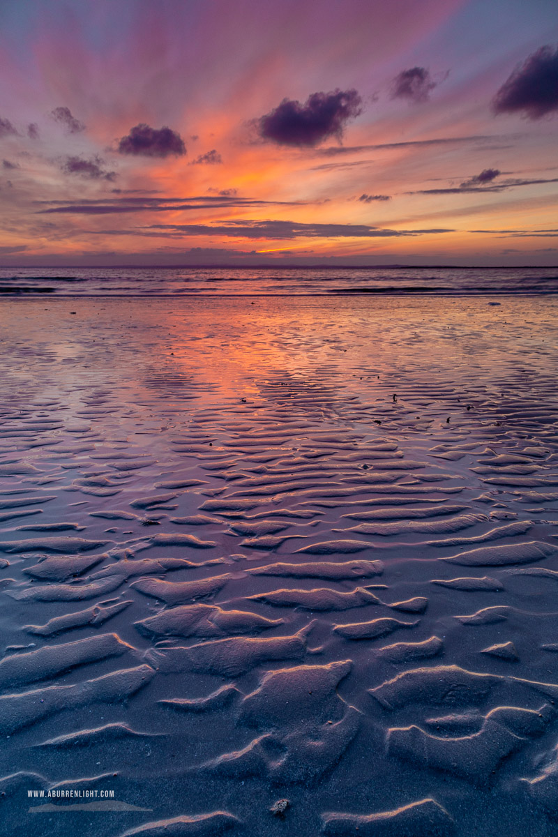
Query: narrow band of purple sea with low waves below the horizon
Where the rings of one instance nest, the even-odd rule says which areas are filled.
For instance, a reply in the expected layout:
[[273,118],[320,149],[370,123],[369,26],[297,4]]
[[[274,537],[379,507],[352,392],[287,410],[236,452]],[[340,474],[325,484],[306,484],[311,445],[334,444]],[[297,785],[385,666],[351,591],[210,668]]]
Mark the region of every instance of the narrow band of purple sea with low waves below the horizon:
[[557,267],[2,268],[0,294],[54,296],[558,293]]

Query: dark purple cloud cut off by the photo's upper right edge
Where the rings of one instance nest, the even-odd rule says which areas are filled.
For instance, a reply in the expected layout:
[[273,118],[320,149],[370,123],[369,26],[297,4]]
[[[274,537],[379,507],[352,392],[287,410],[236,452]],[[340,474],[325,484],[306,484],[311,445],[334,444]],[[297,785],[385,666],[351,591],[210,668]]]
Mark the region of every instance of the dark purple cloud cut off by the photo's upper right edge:
[[558,110],[558,47],[541,47],[509,76],[494,96],[494,113],[523,112],[530,119]]

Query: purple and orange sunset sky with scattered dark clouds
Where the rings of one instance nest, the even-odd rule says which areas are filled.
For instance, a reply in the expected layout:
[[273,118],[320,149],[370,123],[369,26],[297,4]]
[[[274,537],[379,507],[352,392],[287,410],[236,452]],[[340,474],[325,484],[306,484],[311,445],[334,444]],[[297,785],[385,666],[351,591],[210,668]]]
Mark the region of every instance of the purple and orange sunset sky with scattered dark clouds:
[[0,63],[0,266],[558,264],[555,0],[18,0]]

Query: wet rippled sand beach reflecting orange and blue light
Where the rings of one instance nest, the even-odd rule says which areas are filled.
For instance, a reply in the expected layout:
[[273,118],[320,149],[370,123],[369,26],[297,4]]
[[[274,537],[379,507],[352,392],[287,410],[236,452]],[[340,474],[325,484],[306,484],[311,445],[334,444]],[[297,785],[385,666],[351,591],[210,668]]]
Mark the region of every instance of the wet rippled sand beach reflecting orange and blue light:
[[2,833],[555,834],[557,313],[3,300]]

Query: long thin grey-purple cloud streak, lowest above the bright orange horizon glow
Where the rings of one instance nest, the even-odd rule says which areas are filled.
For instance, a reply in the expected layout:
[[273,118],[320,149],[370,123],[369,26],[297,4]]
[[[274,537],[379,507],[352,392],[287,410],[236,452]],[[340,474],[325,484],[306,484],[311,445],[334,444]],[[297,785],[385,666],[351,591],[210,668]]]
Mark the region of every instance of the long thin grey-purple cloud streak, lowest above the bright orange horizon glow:
[[161,230],[163,234],[220,235],[241,239],[307,239],[307,238],[399,238],[426,233],[450,233],[450,229],[378,229],[356,223],[298,223],[296,221],[228,221],[216,226],[209,224],[151,224],[149,230]]

